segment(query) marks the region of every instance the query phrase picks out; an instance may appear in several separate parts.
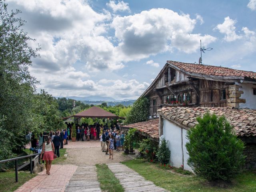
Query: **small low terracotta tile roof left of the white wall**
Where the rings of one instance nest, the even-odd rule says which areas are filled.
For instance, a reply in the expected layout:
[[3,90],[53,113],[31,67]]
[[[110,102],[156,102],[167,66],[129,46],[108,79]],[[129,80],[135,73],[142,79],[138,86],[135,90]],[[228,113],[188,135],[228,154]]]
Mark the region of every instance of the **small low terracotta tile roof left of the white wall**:
[[134,124],[124,125],[124,128],[136,128],[140,132],[144,132],[146,135],[152,138],[159,138],[158,135],[158,123],[159,119],[152,119],[144,122],[138,122]]

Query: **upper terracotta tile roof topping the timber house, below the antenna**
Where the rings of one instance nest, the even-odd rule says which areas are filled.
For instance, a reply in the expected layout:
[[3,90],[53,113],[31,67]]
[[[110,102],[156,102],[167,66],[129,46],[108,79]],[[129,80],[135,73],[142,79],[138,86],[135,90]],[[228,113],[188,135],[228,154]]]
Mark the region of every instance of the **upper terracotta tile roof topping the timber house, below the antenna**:
[[214,75],[214,76],[238,76],[238,77],[244,77],[244,78],[256,80],[256,72],[242,71],[242,70],[230,69],[230,68],[220,67],[220,66],[183,63],[183,62],[177,62],[177,61],[167,61],[167,62],[189,73]]

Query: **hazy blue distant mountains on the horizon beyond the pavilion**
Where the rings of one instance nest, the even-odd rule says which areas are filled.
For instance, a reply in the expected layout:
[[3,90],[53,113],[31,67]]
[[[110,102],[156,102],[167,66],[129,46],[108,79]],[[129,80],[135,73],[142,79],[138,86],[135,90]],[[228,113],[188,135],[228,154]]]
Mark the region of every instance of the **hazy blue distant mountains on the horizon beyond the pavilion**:
[[[62,97],[55,97],[62,98]],[[115,106],[118,104],[122,104],[124,106],[132,105],[136,100],[124,99],[124,100],[116,100],[112,97],[105,96],[85,96],[85,97],[77,97],[77,96],[67,96],[67,99],[74,99],[83,102],[84,104],[93,104],[100,105],[103,102],[106,102],[109,106]]]

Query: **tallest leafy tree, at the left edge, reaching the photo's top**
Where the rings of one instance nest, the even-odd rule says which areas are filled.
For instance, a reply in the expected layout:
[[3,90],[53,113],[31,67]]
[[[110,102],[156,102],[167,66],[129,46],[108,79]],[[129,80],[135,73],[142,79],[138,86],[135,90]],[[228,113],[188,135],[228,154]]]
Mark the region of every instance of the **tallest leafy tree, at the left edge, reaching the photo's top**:
[[20,13],[7,11],[7,4],[0,0],[0,116],[3,138],[8,138],[10,150],[18,151],[26,143],[25,135],[34,130],[32,98],[36,79],[30,75],[28,67],[37,50],[28,43],[34,41],[22,30],[24,21],[16,17]]

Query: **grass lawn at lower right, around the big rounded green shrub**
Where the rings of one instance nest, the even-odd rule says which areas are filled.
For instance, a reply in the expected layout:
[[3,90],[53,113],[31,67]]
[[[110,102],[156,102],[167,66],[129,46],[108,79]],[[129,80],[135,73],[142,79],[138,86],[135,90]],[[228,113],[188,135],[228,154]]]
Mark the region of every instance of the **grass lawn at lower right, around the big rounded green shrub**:
[[141,160],[130,160],[122,162],[126,166],[144,176],[155,185],[165,188],[171,192],[256,192],[256,173],[243,172],[225,188],[210,186],[210,184],[195,175],[185,176],[161,169],[157,164],[143,162]]

